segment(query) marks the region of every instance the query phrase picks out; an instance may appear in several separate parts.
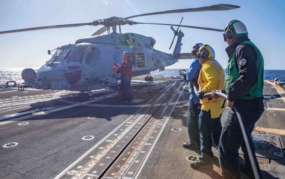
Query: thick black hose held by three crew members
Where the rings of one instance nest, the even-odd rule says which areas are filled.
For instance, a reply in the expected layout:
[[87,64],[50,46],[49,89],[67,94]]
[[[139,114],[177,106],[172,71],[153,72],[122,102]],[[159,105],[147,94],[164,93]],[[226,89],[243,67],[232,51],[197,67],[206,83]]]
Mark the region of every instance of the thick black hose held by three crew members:
[[[198,93],[198,89],[197,89],[197,78],[194,78],[193,81],[193,87],[194,87],[194,92],[197,95]],[[227,95],[222,93],[222,92],[215,92],[216,96],[222,97],[225,100],[227,100]],[[211,93],[206,93],[203,94],[202,98],[209,98],[211,96]],[[257,158],[255,155],[255,152],[253,152],[254,149],[254,145],[253,142],[251,142],[251,136],[249,134],[249,131],[247,129],[247,126],[245,125],[245,119],[243,118],[243,115],[241,114],[241,109],[239,108],[238,105],[236,105],[236,103],[234,103],[233,108],[235,109],[235,113],[237,115],[237,119],[239,120],[239,125],[241,126],[241,131],[243,133],[243,138],[245,140],[245,145],[247,147],[247,151],[249,153],[249,159],[251,162],[251,166],[253,169],[253,173],[256,179],[262,179],[262,175],[261,175],[261,171],[257,162]]]

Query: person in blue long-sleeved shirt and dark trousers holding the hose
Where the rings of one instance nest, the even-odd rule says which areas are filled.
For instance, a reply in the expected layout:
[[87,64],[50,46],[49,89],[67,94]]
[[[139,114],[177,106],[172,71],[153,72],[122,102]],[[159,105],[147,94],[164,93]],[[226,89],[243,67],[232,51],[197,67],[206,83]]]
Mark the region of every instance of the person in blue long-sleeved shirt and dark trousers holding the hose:
[[[199,77],[200,70],[202,65],[200,64],[199,60],[197,59],[197,53],[204,44],[196,43],[193,46],[192,55],[195,56],[195,60],[193,60],[192,64],[190,65],[190,69],[187,72],[186,80],[191,82],[193,78]],[[197,85],[197,89],[199,86]],[[200,150],[200,131],[199,131],[199,114],[200,114],[200,99],[197,98],[193,84],[189,83],[189,107],[188,107],[188,117],[187,117],[187,127],[188,127],[188,135],[190,142],[184,142],[183,147],[186,149],[197,149]]]

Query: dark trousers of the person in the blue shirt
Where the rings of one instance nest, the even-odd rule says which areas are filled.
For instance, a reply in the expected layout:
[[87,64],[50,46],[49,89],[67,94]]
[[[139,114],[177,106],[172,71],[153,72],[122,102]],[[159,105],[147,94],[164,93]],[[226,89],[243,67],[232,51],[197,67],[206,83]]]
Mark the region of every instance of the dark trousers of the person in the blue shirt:
[[190,144],[193,144],[194,146],[201,145],[199,130],[199,114],[201,110],[199,108],[200,103],[194,104],[194,99],[189,99],[187,127]]

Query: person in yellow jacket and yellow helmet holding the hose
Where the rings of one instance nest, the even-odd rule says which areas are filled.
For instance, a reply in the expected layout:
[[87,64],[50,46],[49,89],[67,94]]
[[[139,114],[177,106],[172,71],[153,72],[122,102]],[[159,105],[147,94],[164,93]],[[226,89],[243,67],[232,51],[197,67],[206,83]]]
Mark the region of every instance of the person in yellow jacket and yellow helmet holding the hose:
[[225,100],[223,98],[202,98],[203,94],[212,92],[212,90],[224,89],[225,73],[222,66],[214,58],[215,51],[209,45],[203,45],[199,49],[198,59],[202,68],[198,79],[200,90],[197,97],[202,104],[199,114],[201,155],[199,160],[190,164],[195,169],[213,169],[212,142],[214,141],[218,146],[221,136],[221,115],[225,110]]

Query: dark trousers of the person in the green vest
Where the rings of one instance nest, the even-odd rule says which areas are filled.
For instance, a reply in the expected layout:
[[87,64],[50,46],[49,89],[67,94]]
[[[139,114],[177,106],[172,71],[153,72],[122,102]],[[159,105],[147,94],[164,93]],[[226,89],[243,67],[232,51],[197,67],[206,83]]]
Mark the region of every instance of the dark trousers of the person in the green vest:
[[[249,134],[251,134],[254,125],[260,118],[262,112],[241,111],[245,119],[247,129],[249,130]],[[251,140],[251,142],[253,141]],[[229,109],[219,142],[219,163],[223,178],[241,178],[241,171],[239,169],[240,146],[245,154],[244,158],[246,167],[248,170],[252,170],[239,121],[233,109]]]

